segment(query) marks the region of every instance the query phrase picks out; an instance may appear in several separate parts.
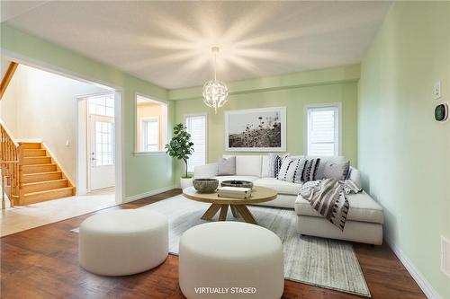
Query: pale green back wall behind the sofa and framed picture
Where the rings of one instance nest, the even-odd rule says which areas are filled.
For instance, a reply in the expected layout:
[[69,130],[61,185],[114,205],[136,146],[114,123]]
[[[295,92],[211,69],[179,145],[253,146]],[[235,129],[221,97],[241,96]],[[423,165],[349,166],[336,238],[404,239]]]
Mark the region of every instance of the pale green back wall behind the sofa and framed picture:
[[[184,122],[184,115],[208,114],[208,161],[216,162],[224,154],[223,112],[263,107],[287,107],[287,151],[303,153],[304,107],[315,103],[342,103],[342,154],[356,165],[357,126],[356,102],[359,66],[343,66],[227,83],[229,101],[218,110],[208,109],[202,102],[200,87],[173,90],[175,120]],[[183,99],[183,94],[188,97]],[[228,152],[229,153],[229,152]],[[177,173],[182,165],[177,164]]]

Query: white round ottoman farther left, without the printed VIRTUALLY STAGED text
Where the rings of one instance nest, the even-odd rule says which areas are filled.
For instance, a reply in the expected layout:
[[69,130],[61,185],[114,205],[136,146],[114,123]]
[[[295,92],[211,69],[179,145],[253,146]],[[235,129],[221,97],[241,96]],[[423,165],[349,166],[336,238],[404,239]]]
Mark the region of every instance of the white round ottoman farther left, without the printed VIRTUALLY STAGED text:
[[93,215],[80,225],[79,261],[89,272],[122,276],[146,271],[168,255],[166,215],[131,209]]

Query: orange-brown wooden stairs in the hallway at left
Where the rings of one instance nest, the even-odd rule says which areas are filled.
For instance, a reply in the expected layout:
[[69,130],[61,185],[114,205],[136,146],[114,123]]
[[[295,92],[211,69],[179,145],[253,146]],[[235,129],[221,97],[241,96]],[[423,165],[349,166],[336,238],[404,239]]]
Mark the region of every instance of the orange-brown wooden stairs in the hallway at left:
[[[75,187],[59,169],[40,143],[19,143],[21,188],[19,202],[25,206],[40,201],[67,198],[75,195]],[[22,164],[22,165],[21,165]]]

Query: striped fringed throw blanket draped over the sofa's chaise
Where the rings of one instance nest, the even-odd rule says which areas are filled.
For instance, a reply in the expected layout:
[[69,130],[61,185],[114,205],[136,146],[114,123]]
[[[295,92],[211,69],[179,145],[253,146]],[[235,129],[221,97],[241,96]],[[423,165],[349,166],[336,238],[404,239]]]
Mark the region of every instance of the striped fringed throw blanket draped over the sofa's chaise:
[[344,231],[350,207],[346,194],[361,191],[351,180],[325,179],[306,182],[300,189],[300,195],[308,200],[320,215]]

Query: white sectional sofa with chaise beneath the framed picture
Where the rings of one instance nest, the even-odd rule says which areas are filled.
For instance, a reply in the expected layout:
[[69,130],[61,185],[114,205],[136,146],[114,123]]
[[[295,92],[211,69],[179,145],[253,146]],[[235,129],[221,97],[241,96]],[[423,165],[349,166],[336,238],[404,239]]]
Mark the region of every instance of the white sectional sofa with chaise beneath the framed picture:
[[[344,157],[340,156],[320,157],[322,167],[328,162],[342,161]],[[278,192],[275,200],[258,205],[294,209],[298,216],[297,231],[299,233],[375,245],[383,243],[383,208],[367,193],[363,191],[359,194],[347,195],[350,209],[346,228],[341,232],[338,227],[315,211],[307,200],[298,195],[301,184],[264,177],[263,169],[266,163],[268,163],[267,155],[236,155],[236,175],[218,176],[218,163],[210,163],[195,167],[194,179],[249,180],[255,186],[275,189]],[[348,179],[361,186],[361,174],[355,168],[351,168]]]

